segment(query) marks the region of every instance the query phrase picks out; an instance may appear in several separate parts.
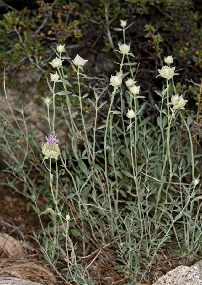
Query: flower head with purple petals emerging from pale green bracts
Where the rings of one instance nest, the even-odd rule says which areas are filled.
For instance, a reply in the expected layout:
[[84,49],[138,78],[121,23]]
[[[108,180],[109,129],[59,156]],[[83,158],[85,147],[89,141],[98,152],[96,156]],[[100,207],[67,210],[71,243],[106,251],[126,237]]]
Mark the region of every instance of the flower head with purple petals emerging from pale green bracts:
[[60,139],[57,138],[57,135],[54,137],[53,134],[48,137],[45,136],[45,139],[47,142],[41,146],[45,159],[48,159],[49,157],[58,159],[57,157],[60,154],[60,148],[57,142],[59,142]]

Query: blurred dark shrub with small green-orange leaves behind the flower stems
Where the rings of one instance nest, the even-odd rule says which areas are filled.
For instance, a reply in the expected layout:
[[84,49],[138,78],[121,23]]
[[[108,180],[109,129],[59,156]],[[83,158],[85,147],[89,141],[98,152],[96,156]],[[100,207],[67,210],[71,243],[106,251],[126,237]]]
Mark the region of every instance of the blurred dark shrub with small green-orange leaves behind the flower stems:
[[[39,70],[39,78],[33,82],[33,87],[40,93],[44,90],[44,78],[51,70],[48,62],[53,59],[53,51],[50,46],[60,43],[73,46],[85,41],[86,29],[91,33],[90,25],[96,25],[96,33],[102,35],[96,52],[109,53],[114,49],[113,42],[116,45],[117,32],[113,28],[120,24],[120,19],[128,20],[129,24],[134,19],[144,19],[138,36],[148,38],[160,66],[163,65],[164,55],[172,54],[190,72],[202,68],[202,9],[195,9],[191,0],[88,0],[69,4],[65,0],[57,0],[54,7],[44,0],[36,3],[38,9],[25,7],[18,13],[13,9],[0,20],[0,68],[3,71],[3,61],[7,61],[6,75],[12,70],[30,73]],[[157,19],[149,16],[154,9],[159,15],[159,28]],[[130,30],[127,33],[128,40],[133,42],[135,35],[130,34]],[[95,38],[92,37],[93,41]],[[66,52],[73,53],[73,56],[75,53],[71,48]],[[137,54],[135,50],[133,52]],[[69,70],[67,74],[73,79],[74,74]],[[0,76],[1,81],[3,72]],[[16,85],[16,88],[26,92],[24,85]],[[77,87],[73,85],[72,88],[74,92]]]

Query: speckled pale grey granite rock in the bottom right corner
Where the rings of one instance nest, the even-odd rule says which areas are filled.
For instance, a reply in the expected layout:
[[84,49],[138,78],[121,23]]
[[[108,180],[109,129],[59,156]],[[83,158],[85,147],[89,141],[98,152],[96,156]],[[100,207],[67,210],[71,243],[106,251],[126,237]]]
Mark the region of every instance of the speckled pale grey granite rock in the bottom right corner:
[[202,261],[195,265],[178,266],[159,278],[153,285],[202,285]]

